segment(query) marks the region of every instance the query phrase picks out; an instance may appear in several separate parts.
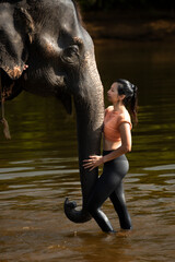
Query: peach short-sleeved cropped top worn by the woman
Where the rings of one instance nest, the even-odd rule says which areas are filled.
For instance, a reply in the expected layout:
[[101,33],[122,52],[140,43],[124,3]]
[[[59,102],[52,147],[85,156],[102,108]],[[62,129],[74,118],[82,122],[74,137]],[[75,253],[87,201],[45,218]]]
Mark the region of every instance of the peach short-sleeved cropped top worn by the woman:
[[118,142],[121,140],[119,126],[122,122],[127,122],[130,124],[130,129],[132,128],[129,112],[126,110],[125,112],[114,111],[114,107],[109,106],[105,109],[105,119],[104,119],[104,136],[106,140],[112,142]]

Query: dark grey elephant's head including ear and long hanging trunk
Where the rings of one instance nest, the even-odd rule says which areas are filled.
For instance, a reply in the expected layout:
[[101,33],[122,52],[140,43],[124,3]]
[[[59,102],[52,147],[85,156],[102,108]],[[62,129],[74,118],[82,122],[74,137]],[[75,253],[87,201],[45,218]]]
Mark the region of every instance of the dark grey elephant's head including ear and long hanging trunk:
[[[26,71],[24,64],[28,64]],[[86,203],[97,169],[85,170],[82,160],[100,154],[104,118],[103,86],[94,46],[71,0],[0,0],[0,74],[5,100],[22,91],[56,96],[71,112],[77,110],[82,210],[65,202],[68,218],[91,219]]]

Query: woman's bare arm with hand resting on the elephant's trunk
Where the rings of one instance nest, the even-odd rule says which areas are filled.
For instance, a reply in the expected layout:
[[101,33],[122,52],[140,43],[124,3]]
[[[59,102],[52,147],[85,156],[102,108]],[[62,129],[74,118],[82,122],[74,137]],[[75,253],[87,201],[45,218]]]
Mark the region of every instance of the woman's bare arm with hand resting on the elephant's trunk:
[[105,156],[97,156],[92,155],[90,156],[90,159],[84,160],[84,168],[91,168],[93,170],[95,167],[103,165],[106,162],[113,160],[114,158],[126,154],[127,152],[131,151],[131,133],[130,133],[130,124],[127,122],[122,122],[119,126],[119,131],[121,135],[121,145],[113,151],[112,153],[105,155]]

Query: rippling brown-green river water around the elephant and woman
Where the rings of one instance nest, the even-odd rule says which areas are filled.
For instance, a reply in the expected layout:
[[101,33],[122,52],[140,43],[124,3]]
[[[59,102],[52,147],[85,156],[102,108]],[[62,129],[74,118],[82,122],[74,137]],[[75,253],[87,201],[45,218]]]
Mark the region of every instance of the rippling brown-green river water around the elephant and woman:
[[103,209],[115,235],[93,219],[66,218],[66,196],[81,206],[74,112],[23,93],[5,106],[12,140],[0,131],[0,262],[175,261],[175,47],[98,40],[95,48],[105,92],[118,78],[139,87],[125,178],[133,229],[119,230],[109,201]]

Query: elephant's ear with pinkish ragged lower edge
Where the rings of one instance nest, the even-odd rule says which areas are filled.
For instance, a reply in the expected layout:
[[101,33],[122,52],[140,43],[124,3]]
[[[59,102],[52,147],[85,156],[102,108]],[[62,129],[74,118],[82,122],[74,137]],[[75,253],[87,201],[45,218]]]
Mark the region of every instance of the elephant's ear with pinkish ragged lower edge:
[[23,8],[0,4],[0,68],[15,80],[27,60],[26,43],[32,43],[34,23]]

